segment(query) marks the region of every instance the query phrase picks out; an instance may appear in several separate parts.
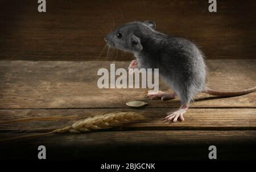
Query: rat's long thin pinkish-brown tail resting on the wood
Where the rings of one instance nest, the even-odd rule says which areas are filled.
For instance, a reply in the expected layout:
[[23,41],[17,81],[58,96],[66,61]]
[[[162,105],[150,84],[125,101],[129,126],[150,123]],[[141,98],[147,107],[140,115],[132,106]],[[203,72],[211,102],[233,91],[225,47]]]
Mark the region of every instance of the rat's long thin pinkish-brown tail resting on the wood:
[[249,94],[256,91],[256,86],[248,89],[243,89],[241,91],[218,91],[211,88],[206,88],[204,93],[210,94],[212,96],[222,96],[222,97],[232,97],[241,96],[243,94]]

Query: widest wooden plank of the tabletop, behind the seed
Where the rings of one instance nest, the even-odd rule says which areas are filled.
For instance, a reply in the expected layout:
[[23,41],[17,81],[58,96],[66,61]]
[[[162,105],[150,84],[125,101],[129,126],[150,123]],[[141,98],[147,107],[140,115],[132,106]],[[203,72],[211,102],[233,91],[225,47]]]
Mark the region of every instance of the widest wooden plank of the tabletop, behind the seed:
[[[209,85],[222,90],[254,87],[256,61],[209,60]],[[0,108],[127,108],[142,100],[147,108],[177,108],[179,99],[148,100],[148,89],[99,89],[100,68],[127,68],[129,62],[0,61]],[[160,90],[170,92],[160,80]],[[219,98],[199,94],[191,107],[256,107],[256,93]]]

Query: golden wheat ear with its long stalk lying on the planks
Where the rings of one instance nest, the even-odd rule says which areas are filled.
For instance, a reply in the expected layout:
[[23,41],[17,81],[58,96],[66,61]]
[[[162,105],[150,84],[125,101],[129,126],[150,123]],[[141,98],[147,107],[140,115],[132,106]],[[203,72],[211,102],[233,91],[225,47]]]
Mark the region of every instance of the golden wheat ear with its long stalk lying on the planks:
[[123,123],[130,123],[130,122],[139,121],[142,119],[144,119],[143,115],[134,113],[134,112],[113,112],[113,113],[108,113],[108,114],[104,114],[104,115],[96,115],[95,117],[89,117],[86,119],[81,119],[81,120],[73,123],[72,126],[56,129],[51,132],[12,137],[12,138],[3,139],[0,141],[20,139],[20,138],[32,137],[32,136],[43,136],[43,135],[49,135],[49,134],[54,134],[54,133],[89,132],[89,131],[94,131],[94,130],[111,128],[114,126],[121,126]]

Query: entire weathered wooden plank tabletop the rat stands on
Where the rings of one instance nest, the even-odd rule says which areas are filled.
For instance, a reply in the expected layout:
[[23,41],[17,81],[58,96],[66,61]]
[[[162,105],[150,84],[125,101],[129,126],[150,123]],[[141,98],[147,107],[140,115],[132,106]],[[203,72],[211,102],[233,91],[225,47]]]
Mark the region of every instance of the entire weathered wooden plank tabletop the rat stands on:
[[[255,159],[256,92],[221,98],[200,93],[184,122],[163,123],[179,99],[148,100],[148,89],[99,89],[97,70],[127,68],[111,61],[0,61],[0,122],[59,115],[71,119],[0,124],[0,139],[52,131],[81,118],[113,111],[136,111],[143,122],[86,134],[54,134],[0,143],[1,158],[37,158],[39,145],[48,159],[208,160],[216,145],[218,160]],[[238,90],[256,84],[256,60],[209,60],[211,88]],[[163,81],[160,90],[171,91]],[[142,100],[143,108],[127,101]]]

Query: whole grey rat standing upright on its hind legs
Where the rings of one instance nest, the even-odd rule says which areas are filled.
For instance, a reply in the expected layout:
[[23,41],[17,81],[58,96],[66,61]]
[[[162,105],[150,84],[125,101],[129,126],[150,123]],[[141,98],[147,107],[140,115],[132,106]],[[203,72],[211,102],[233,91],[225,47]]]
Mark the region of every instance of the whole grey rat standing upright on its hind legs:
[[159,68],[160,77],[172,88],[174,93],[148,94],[150,99],[175,98],[181,101],[179,110],[167,113],[166,121],[184,120],[189,102],[199,92],[213,96],[239,96],[256,91],[256,87],[236,92],[223,92],[210,89],[205,84],[207,66],[204,54],[191,41],[168,36],[155,31],[154,21],[134,21],[123,24],[105,37],[113,48],[129,51],[136,60],[129,68]]

